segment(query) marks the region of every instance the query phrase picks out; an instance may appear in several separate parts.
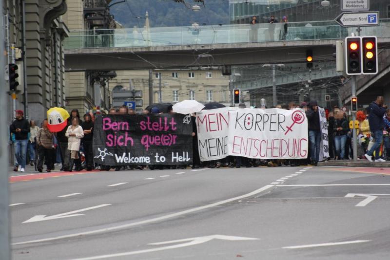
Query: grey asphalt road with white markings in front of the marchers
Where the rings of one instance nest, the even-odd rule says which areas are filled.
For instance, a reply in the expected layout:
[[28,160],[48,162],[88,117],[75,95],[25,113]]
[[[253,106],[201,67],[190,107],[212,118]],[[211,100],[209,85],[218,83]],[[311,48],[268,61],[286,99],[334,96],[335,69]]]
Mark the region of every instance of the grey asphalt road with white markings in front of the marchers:
[[28,175],[10,184],[12,257],[388,260],[389,172],[258,167]]

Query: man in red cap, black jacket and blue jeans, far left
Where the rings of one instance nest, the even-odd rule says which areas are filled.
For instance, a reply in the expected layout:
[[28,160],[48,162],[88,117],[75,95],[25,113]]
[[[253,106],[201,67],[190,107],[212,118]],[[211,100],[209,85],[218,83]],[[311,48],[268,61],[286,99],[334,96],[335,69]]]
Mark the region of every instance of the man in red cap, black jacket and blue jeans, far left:
[[[20,171],[24,172],[26,167],[26,154],[28,144],[28,133],[30,132],[30,125],[23,117],[23,111],[17,110],[16,120],[12,122],[10,127],[11,133],[15,134],[15,157],[20,166]],[[14,171],[18,171],[18,166],[14,168]]]

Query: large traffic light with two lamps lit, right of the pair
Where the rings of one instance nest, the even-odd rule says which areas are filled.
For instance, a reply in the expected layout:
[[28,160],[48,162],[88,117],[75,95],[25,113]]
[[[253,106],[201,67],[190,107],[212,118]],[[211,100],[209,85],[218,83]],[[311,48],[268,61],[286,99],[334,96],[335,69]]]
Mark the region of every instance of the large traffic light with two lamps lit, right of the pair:
[[378,58],[376,37],[362,37],[363,47],[363,74],[377,74]]

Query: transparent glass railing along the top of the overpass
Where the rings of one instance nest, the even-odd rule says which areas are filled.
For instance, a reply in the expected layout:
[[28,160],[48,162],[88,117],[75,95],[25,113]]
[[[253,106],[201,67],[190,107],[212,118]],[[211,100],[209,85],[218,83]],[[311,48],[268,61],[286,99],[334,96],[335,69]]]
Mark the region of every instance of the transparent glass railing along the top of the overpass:
[[[334,21],[84,30],[72,31],[65,39],[64,47],[82,49],[339,39],[355,31],[355,27],[344,28]],[[362,27],[362,35],[390,37],[390,19],[381,19],[380,26]]]

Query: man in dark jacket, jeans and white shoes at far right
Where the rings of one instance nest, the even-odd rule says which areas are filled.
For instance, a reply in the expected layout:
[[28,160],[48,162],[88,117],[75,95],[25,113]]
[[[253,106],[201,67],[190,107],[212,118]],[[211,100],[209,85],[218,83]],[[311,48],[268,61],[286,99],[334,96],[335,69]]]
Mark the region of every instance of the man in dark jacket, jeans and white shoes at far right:
[[383,117],[386,114],[386,110],[387,106],[383,105],[383,96],[378,96],[368,108],[370,130],[375,139],[374,145],[364,155],[364,157],[366,157],[370,162],[372,162],[372,155],[374,151],[375,162],[385,162],[385,160],[379,157],[379,150],[383,141],[383,129],[385,128],[385,121],[383,120]]

